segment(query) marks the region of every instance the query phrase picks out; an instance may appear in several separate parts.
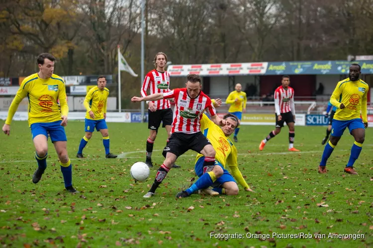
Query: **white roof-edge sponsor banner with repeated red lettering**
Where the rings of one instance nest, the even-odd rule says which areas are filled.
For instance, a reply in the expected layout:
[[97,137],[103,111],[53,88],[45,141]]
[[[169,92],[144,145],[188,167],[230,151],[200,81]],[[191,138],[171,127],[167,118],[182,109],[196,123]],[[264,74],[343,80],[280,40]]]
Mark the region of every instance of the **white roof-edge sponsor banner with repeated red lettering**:
[[267,70],[267,62],[255,63],[220,63],[220,64],[179,64],[169,65],[167,71],[171,76],[198,74],[212,75],[263,75]]

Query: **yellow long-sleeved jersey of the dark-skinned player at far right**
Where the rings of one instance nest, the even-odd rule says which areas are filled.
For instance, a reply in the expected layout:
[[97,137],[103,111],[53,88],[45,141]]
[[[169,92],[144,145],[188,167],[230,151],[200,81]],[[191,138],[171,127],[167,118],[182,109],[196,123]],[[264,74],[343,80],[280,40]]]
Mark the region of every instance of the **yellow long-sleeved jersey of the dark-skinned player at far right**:
[[[330,103],[338,108],[334,114],[334,119],[339,121],[357,119],[360,118],[361,112],[363,122],[368,122],[368,90],[368,84],[361,79],[351,81],[350,78],[346,78],[339,81],[330,97]],[[342,103],[345,105],[344,109],[340,109]]]

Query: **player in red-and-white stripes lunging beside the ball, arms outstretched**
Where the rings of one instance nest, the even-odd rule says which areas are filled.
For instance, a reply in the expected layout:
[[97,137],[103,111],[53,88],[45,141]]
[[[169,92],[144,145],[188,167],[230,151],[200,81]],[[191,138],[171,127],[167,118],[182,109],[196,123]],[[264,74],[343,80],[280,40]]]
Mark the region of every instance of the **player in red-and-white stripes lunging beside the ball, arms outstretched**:
[[220,119],[212,106],[210,98],[201,90],[201,78],[196,74],[187,75],[186,88],[174,89],[166,93],[156,93],[146,97],[132,97],[133,102],[157,101],[175,98],[174,121],[170,141],[164,149],[166,159],[158,169],[154,183],[144,197],[154,195],[155,190],[165,179],[176,159],[193,150],[204,156],[203,171],[209,172],[215,164],[215,150],[210,141],[200,131],[200,119],[203,110],[207,109],[211,120],[218,125],[225,125],[226,121]]

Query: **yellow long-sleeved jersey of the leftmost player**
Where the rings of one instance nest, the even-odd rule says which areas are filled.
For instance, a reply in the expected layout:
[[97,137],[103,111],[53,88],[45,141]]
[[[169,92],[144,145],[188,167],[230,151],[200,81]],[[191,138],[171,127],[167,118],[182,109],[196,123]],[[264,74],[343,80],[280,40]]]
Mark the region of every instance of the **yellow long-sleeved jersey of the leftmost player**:
[[69,113],[64,80],[56,74],[52,74],[48,79],[41,79],[38,73],[35,73],[23,79],[11,102],[5,124],[11,124],[19,103],[26,96],[29,126],[34,123],[61,121],[61,116],[67,116]]

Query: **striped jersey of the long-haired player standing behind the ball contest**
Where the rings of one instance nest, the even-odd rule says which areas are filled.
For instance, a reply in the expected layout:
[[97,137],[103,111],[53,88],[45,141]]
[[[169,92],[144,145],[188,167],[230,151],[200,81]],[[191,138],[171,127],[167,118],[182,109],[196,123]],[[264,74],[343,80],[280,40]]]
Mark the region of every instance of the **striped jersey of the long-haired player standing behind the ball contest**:
[[[144,82],[141,87],[141,96],[146,97],[146,92],[150,88],[150,94],[165,93],[170,91],[170,73],[159,72],[154,69],[146,74]],[[170,101],[167,99],[152,101],[157,110],[171,108]]]

